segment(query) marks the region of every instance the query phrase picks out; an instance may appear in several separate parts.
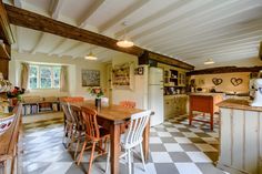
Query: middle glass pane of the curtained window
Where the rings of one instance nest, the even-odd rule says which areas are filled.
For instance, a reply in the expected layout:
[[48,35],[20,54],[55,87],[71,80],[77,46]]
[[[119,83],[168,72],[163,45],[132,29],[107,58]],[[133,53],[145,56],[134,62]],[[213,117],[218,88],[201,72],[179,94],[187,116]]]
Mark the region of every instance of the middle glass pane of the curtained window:
[[50,89],[52,88],[52,83],[51,83],[51,68],[49,66],[41,66],[40,68],[40,81],[41,81],[41,89]]

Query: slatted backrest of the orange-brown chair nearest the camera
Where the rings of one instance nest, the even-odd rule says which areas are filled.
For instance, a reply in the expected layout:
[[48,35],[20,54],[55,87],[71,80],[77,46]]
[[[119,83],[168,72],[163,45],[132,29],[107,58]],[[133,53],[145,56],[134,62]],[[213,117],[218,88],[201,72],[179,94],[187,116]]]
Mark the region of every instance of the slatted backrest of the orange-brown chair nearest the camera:
[[83,121],[85,124],[85,135],[88,135],[91,140],[99,139],[99,125],[97,122],[97,111],[90,108],[81,108]]

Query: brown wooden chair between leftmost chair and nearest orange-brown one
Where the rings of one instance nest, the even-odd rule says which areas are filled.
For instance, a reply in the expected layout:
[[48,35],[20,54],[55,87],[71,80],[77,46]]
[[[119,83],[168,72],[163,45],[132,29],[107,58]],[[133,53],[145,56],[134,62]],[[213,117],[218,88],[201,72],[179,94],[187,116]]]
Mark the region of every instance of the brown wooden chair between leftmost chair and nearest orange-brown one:
[[75,106],[75,105],[70,105],[70,110],[71,110],[71,115],[73,120],[75,121],[75,127],[74,127],[71,143],[77,142],[77,146],[75,146],[74,155],[73,155],[74,160],[77,160],[79,144],[82,140],[84,140],[85,124],[83,121],[81,108]]

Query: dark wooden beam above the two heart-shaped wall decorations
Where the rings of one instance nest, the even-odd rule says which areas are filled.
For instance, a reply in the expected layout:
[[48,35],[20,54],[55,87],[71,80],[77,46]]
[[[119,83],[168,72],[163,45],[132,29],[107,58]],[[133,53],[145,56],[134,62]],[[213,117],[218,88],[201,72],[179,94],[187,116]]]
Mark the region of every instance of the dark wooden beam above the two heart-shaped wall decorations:
[[218,73],[231,73],[231,72],[259,72],[262,66],[220,66],[203,70],[190,71],[187,75],[201,75],[201,74],[218,74]]

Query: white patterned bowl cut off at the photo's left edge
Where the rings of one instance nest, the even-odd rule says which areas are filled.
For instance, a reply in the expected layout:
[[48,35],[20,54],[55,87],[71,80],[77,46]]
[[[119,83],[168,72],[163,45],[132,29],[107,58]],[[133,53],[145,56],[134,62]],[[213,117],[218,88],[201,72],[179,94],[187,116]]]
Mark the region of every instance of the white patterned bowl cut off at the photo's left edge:
[[0,113],[0,135],[10,129],[14,116],[14,113]]

